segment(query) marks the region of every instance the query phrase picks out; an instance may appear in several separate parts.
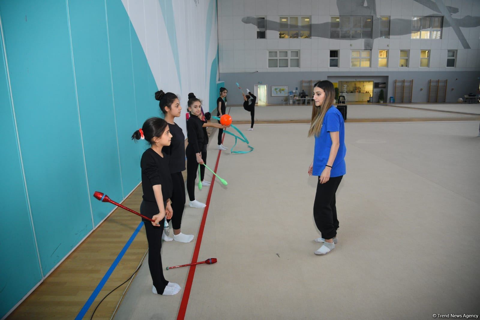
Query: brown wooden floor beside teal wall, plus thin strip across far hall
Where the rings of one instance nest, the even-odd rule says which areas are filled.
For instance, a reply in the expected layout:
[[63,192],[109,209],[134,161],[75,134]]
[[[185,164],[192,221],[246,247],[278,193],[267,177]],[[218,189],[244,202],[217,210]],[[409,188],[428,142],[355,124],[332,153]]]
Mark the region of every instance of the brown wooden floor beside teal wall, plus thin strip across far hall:
[[[395,119],[348,119],[347,122],[415,122],[415,121],[472,121],[480,116],[449,118],[395,118]],[[309,123],[304,120],[271,120],[256,123]],[[250,122],[234,122],[249,124]],[[213,130],[209,129],[209,135]],[[186,171],[183,172],[184,179]],[[142,189],[137,187],[122,202],[126,207],[139,210]],[[139,217],[123,209],[116,209],[88,238],[80,244],[60,266],[54,270],[7,319],[73,319],[84,306],[97,284],[115,260],[135,228]],[[138,268],[146,251],[144,228],[133,240],[107,283],[89,308],[84,319],[90,319],[98,302],[112,289],[124,282]],[[145,261],[146,263],[146,261]],[[94,319],[110,319],[119,304],[128,283],[110,294],[96,310]]]

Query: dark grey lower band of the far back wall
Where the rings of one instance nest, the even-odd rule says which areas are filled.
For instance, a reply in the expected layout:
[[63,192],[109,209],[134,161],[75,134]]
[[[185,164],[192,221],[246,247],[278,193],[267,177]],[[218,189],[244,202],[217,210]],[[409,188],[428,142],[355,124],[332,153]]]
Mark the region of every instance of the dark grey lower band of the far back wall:
[[[242,88],[253,90],[254,85],[267,86],[267,103],[282,104],[284,97],[272,97],[271,86],[288,86],[288,90],[295,90],[298,87],[301,90],[302,80],[325,80],[332,82],[337,80],[355,80],[357,77],[373,79],[380,81],[382,77],[388,77],[387,88],[384,89],[385,97],[394,95],[395,80],[413,79],[412,102],[427,102],[429,80],[448,80],[446,102],[456,102],[458,98],[463,98],[468,93],[477,93],[479,89],[480,76],[478,71],[411,71],[411,72],[357,72],[352,76],[352,72],[240,72],[240,73],[220,73],[220,81],[225,81],[225,87],[228,91],[228,104],[242,104],[243,98],[240,91],[236,88],[236,82]],[[420,91],[420,88],[423,88]],[[452,91],[452,88],[454,89]],[[378,90],[378,89],[377,89]],[[378,97],[378,93],[377,93]],[[376,100],[375,100],[376,101]]]

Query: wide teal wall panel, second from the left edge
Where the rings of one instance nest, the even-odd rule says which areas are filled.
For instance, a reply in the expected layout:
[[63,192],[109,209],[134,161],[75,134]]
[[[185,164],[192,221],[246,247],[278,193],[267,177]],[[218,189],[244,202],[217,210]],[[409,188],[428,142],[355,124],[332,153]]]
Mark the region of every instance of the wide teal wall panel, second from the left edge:
[[[2,23],[44,274],[92,230],[65,1],[3,1]],[[21,39],[21,41],[19,41]]]

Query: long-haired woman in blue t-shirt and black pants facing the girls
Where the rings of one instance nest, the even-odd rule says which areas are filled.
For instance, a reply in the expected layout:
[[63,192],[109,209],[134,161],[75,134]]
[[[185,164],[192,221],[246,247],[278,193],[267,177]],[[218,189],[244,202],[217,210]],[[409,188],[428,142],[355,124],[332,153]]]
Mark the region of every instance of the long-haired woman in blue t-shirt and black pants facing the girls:
[[315,251],[325,255],[335,248],[336,229],[339,227],[336,216],[335,193],[347,172],[345,167],[345,123],[340,111],[333,103],[335,89],[330,81],[319,81],[313,86],[312,122],[308,136],[315,136],[313,161],[308,168],[310,176],[318,176],[317,193],[313,204],[313,218],[322,237],[315,242],[323,245]]

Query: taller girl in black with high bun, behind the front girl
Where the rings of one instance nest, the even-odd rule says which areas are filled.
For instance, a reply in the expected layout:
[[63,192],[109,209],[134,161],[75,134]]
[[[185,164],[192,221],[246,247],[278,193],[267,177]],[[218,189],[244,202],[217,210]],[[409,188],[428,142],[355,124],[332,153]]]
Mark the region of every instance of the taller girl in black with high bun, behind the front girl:
[[[162,234],[162,240],[189,243],[193,240],[193,235],[181,233],[181,220],[185,208],[185,182],[181,173],[185,170],[185,135],[178,124],[174,122],[175,118],[180,117],[180,101],[174,93],[165,93],[163,90],[155,93],[155,99],[159,101],[158,106],[164,114],[172,135],[171,144],[164,147],[163,152],[169,156],[168,167],[173,184],[172,197],[170,198],[173,212],[175,212],[175,215],[171,218],[173,238],[164,233]],[[167,222],[170,222],[170,219]]]

